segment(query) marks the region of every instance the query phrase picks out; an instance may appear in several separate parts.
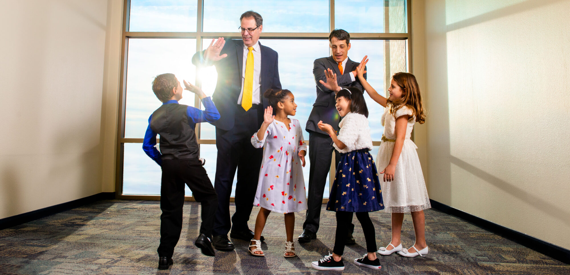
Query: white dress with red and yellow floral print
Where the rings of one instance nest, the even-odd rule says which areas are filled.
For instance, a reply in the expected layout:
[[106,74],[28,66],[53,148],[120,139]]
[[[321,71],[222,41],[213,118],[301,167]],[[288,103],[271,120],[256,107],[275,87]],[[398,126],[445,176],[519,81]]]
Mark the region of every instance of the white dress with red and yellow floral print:
[[307,145],[303,142],[299,121],[291,118],[291,123],[286,125],[274,120],[262,140],[257,133],[251,136],[251,144],[263,147],[254,206],[280,213],[306,210],[305,181],[298,152],[307,151]]

